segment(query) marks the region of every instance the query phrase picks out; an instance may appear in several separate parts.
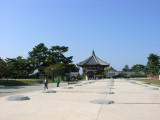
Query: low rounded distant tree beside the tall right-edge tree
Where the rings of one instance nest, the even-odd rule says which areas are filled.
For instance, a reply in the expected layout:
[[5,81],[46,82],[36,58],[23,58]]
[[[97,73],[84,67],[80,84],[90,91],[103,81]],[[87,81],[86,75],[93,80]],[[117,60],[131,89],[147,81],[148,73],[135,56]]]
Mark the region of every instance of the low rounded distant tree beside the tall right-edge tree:
[[134,71],[136,74],[139,74],[139,72],[145,72],[146,67],[141,64],[136,64],[136,65],[132,66],[131,70]]

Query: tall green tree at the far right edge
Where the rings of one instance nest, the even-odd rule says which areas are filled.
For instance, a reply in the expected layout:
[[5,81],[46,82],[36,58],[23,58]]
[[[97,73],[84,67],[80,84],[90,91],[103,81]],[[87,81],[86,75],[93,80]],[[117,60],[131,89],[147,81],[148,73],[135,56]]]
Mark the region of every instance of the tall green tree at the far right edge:
[[160,57],[156,54],[150,54],[147,62],[147,73],[156,76],[160,70]]

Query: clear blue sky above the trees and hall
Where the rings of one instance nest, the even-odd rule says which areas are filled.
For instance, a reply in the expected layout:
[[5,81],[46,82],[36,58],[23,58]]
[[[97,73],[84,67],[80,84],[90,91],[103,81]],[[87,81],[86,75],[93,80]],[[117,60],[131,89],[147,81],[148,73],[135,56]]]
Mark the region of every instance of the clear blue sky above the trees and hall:
[[160,55],[160,0],[0,0],[0,57],[28,57],[40,43],[68,46],[116,70]]

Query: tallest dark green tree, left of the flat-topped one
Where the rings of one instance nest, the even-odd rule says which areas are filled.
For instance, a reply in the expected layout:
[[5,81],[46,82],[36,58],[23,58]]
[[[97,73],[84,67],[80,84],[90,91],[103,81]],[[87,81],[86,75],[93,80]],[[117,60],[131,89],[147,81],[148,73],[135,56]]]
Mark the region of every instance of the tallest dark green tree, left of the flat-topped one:
[[40,43],[29,52],[28,59],[32,61],[35,69],[38,69],[38,73],[41,74],[44,71],[44,68],[48,66],[47,63],[48,48],[44,43]]

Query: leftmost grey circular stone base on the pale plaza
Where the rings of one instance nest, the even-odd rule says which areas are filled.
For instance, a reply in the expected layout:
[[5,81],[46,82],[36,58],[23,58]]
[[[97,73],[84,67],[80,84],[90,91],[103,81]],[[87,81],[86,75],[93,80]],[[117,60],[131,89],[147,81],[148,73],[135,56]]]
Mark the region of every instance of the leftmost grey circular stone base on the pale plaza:
[[16,96],[10,96],[7,98],[8,101],[25,101],[25,100],[30,100],[28,96],[23,96],[23,95],[16,95]]

